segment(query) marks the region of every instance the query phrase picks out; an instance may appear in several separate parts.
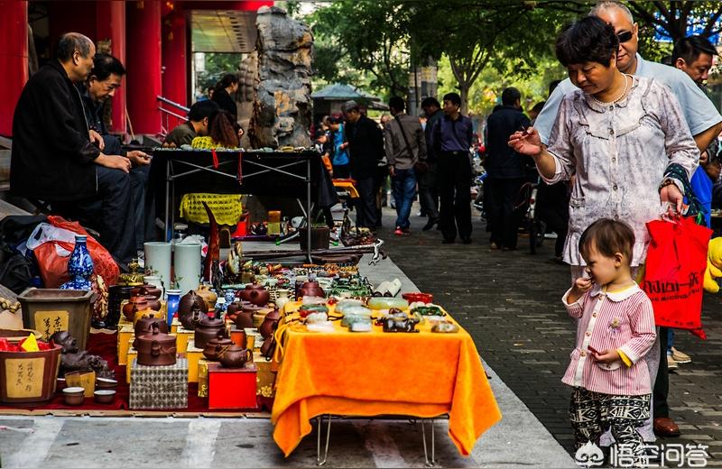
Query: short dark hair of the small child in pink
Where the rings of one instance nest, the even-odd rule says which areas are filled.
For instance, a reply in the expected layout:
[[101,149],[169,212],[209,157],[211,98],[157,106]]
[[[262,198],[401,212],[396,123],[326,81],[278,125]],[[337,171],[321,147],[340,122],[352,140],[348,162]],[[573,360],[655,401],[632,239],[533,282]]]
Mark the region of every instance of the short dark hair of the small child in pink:
[[581,234],[579,253],[586,258],[592,245],[597,253],[606,257],[614,257],[616,253],[622,253],[626,262],[632,262],[634,230],[625,222],[601,218],[588,225]]

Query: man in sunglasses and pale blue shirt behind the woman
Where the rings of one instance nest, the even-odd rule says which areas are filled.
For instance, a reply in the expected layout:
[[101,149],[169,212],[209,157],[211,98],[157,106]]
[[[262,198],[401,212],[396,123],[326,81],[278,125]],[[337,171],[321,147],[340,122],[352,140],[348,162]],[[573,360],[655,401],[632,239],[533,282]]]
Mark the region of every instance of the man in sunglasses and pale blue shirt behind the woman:
[[[637,53],[639,27],[637,23],[634,23],[632,13],[625,5],[616,1],[602,1],[592,8],[589,14],[601,18],[615,28],[616,36],[619,39],[616,67],[622,73],[654,78],[671,88],[672,93],[680,102],[682,114],[690,127],[699,152],[704,152],[709,143],[722,130],[722,115],[719,115],[709,98],[681,70],[643,60],[642,56]],[[539,132],[542,143],[545,145],[549,144],[551,126],[556,119],[562,98],[576,89],[569,78],[563,80],[547,100],[540,115],[537,116],[534,128]],[[661,356],[653,391],[653,430],[661,437],[677,437],[680,435],[680,428],[670,418],[667,405],[669,393],[667,335],[660,334],[658,336],[661,345],[661,352],[658,354]],[[650,372],[653,374],[653,370]],[[643,434],[645,441],[653,441],[653,436],[646,428],[640,433]]]

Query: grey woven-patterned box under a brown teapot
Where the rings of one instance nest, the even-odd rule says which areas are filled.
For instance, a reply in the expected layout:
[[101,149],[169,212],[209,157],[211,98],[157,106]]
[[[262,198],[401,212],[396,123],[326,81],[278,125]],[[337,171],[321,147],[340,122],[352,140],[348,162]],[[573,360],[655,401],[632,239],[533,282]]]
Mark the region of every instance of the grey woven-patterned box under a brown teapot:
[[130,409],[188,409],[188,361],[167,366],[131,363]]

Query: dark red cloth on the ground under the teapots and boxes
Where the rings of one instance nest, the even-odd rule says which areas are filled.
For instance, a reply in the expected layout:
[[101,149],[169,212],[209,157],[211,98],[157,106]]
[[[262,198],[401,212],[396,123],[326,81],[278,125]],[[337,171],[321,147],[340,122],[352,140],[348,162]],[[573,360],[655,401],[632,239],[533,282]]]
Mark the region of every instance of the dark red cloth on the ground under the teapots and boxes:
[[[116,380],[118,386],[116,388],[116,400],[110,404],[97,404],[93,398],[86,398],[85,402],[81,406],[68,406],[63,401],[62,391],[57,390],[55,397],[48,402],[33,402],[28,404],[0,404],[0,413],[6,409],[25,409],[25,410],[55,410],[55,409],[66,409],[66,410],[129,410],[128,400],[130,395],[130,385],[125,382],[125,365],[119,365],[117,359],[117,334],[106,334],[99,332],[97,334],[90,334],[88,337],[88,353],[94,355],[100,355],[106,360],[108,366],[116,372]],[[271,409],[273,406],[272,402],[259,402],[259,407],[265,407]],[[198,383],[190,382],[188,385],[188,409],[162,409],[162,410],[177,410],[179,412],[240,412],[239,409],[214,409],[208,410],[208,399],[199,398],[198,396]],[[247,409],[251,411],[257,411],[258,409]],[[153,409],[158,411],[158,409]]]

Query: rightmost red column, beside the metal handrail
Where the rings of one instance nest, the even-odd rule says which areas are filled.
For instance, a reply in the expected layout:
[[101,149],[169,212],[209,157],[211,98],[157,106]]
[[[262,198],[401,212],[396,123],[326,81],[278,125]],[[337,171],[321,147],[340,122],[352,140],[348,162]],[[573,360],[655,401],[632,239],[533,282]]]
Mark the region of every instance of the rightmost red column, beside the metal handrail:
[[[177,5],[177,4],[176,4]],[[182,106],[189,105],[188,89],[188,22],[186,13],[176,8],[163,18],[162,23],[162,84],[163,97]],[[166,106],[167,107],[167,106]],[[176,114],[179,109],[171,107]],[[168,123],[170,131],[178,119],[171,117]]]

